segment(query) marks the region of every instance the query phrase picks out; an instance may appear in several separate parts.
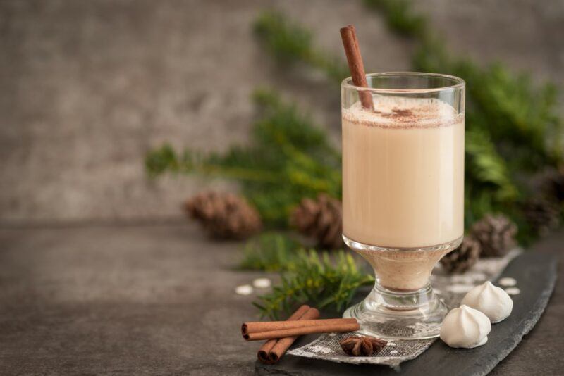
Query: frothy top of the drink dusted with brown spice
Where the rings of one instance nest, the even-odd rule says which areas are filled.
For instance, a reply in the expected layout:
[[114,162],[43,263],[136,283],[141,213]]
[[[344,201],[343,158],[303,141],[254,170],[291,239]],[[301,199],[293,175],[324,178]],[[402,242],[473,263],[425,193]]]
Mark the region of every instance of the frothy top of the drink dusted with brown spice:
[[464,114],[439,99],[374,96],[374,111],[362,108],[360,102],[343,108],[343,119],[373,127],[434,128],[459,123]]

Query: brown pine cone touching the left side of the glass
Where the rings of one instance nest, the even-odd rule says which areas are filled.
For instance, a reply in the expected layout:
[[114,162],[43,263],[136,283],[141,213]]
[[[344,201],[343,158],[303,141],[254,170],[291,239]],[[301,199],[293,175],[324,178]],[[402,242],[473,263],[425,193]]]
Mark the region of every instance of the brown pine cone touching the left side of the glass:
[[341,201],[326,194],[317,199],[303,199],[290,218],[298,232],[317,239],[319,246],[337,249],[343,246],[343,210]]

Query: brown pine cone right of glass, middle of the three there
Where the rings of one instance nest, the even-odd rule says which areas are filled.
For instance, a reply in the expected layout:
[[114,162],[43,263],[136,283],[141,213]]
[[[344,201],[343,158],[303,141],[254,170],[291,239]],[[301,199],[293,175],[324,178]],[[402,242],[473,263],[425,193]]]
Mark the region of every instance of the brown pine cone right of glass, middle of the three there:
[[515,246],[517,226],[503,215],[486,215],[474,223],[472,235],[480,242],[483,257],[501,257]]

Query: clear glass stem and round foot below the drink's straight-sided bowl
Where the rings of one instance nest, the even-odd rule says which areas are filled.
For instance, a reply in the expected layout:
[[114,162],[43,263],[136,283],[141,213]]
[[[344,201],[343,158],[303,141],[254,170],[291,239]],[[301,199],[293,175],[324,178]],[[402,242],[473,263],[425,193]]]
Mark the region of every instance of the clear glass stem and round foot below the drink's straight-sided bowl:
[[[439,337],[441,322],[448,313],[448,308],[434,294],[429,275],[434,263],[449,251],[455,249],[462,238],[453,242],[429,247],[427,249],[384,249],[376,246],[367,246],[348,239],[343,235],[345,243],[357,251],[372,264],[376,271],[376,283],[368,296],[355,306],[347,308],[343,318],[356,318],[360,324],[358,332],[382,339],[429,339]],[[388,253],[386,256],[387,252]],[[393,252],[396,252],[395,255]],[[400,260],[397,259],[401,252]],[[406,253],[403,253],[406,252]],[[429,253],[427,253],[429,252]],[[432,258],[426,256],[435,255]],[[389,260],[410,268],[415,275],[419,275],[419,286],[422,288],[412,290],[389,289],[383,287],[381,282],[397,282],[388,272],[382,270],[384,266],[390,267]],[[424,263],[431,259],[427,267],[421,270],[413,269],[415,264]],[[379,272],[378,272],[379,270]],[[403,279],[402,279],[403,280]],[[404,282],[408,282],[403,280]]]

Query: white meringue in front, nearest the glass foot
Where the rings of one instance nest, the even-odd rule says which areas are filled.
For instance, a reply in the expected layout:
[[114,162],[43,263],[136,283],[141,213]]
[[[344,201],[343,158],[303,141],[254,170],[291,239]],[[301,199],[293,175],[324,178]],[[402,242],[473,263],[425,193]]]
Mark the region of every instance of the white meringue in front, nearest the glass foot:
[[477,309],[462,304],[451,310],[441,325],[441,339],[450,347],[472,349],[488,341],[489,318]]

